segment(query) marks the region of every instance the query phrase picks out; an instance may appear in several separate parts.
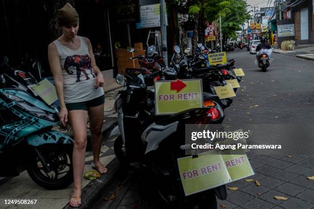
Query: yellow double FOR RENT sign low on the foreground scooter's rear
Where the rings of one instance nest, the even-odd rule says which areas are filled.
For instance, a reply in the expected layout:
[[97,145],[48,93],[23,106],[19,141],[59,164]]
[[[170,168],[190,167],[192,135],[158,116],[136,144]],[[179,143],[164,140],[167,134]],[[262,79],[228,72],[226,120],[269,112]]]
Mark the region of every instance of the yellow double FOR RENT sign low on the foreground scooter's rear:
[[178,158],[178,165],[186,196],[254,175],[245,154],[221,155],[209,151],[194,158]]

